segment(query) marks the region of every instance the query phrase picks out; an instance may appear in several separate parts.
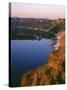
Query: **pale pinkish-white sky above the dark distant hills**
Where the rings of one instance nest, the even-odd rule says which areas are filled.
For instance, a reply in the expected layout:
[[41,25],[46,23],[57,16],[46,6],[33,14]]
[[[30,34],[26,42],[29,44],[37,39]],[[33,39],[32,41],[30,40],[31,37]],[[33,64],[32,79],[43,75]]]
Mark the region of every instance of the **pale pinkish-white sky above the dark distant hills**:
[[63,5],[11,3],[11,17],[20,18],[65,18]]

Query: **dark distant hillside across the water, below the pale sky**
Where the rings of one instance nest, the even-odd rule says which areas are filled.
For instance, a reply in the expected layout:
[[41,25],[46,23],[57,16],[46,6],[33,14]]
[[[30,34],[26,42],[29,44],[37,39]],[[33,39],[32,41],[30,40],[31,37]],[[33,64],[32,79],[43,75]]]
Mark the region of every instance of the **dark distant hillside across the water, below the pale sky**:
[[[11,39],[53,38],[54,34],[65,30],[65,20],[9,18]],[[53,32],[53,33],[52,33]]]

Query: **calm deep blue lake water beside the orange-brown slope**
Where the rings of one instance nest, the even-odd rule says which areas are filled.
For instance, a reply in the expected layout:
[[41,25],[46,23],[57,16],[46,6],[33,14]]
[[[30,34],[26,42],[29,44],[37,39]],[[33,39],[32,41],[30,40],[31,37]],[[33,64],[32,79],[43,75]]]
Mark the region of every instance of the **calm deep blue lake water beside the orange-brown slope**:
[[22,75],[48,63],[53,40],[11,40],[11,86],[19,86]]

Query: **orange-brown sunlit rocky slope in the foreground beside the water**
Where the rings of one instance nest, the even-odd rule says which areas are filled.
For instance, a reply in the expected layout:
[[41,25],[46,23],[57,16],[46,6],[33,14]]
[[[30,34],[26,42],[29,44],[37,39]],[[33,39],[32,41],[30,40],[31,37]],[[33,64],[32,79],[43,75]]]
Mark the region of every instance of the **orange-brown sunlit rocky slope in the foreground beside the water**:
[[64,32],[60,46],[48,58],[48,64],[42,65],[22,76],[20,86],[54,85],[65,83],[65,46]]

